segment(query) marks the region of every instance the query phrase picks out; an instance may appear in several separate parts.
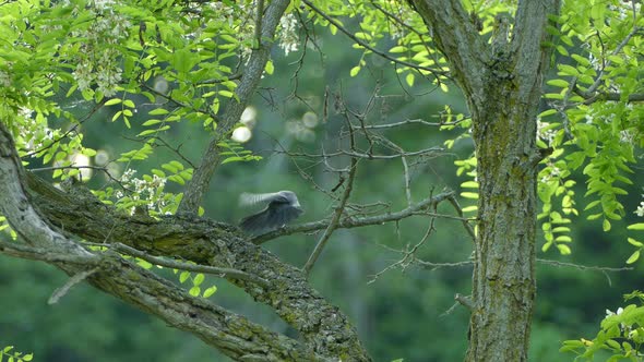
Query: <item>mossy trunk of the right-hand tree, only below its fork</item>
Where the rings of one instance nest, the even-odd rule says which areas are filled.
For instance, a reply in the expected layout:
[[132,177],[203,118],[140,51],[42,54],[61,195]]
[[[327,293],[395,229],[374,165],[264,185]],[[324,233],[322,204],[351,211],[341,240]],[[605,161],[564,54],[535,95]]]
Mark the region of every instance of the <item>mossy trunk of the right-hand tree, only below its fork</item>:
[[486,106],[472,110],[479,125],[479,219],[468,361],[527,360],[536,291],[538,101],[517,102],[511,83],[490,87]]

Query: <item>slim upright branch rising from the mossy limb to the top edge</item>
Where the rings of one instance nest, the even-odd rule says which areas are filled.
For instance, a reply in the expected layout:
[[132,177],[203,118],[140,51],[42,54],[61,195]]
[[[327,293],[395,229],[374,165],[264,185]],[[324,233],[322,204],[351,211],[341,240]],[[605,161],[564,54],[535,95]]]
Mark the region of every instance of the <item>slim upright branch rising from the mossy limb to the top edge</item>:
[[288,0],[271,1],[265,9],[264,16],[257,20],[258,24],[255,26],[261,27],[260,43],[258,44],[258,48],[252,51],[248,64],[242,72],[239,86],[235,90],[238,101],[230,99],[226,105],[222,121],[217,124],[217,134],[211,141],[204,153],[201,166],[192,174],[192,180],[188,184],[181,204],[179,205],[179,212],[196,214],[199,204],[207,191],[211,178],[222,161],[217,144],[226,137],[228,131],[239,121],[241,113],[260,84],[264,68],[270,58],[275,29],[289,2]]

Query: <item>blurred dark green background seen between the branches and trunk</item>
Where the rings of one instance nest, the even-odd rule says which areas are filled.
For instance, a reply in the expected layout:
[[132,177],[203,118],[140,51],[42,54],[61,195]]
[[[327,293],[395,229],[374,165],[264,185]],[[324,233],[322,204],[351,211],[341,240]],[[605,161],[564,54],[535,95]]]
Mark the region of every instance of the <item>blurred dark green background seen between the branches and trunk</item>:
[[[336,173],[329,172],[323,162],[294,159],[275,152],[285,147],[291,152],[333,152],[338,147],[338,134],[346,125],[334,111],[334,97],[338,95],[347,107],[362,111],[380,87],[374,107],[367,114],[370,123],[399,122],[424,119],[437,122],[444,105],[455,112],[466,112],[460,92],[452,87],[449,94],[437,90],[425,80],[417,79],[414,87],[404,85],[395,69],[386,61],[368,58],[368,67],[357,77],[349,77],[361,53],[349,50],[350,44],[342,36],[319,39],[325,55],[308,47],[303,67],[298,61],[302,51],[284,57],[275,52],[275,74],[266,76],[252,106],[257,110],[253,136],[247,144],[263,160],[231,162],[219,168],[211,182],[204,203],[207,217],[237,222],[247,210],[239,209],[237,196],[243,191],[295,191],[306,214],[299,221],[312,221],[329,216],[334,204],[299,171],[306,171],[320,186],[331,189],[338,182]],[[324,43],[333,46],[324,46]],[[163,80],[159,80],[163,83]],[[329,117],[323,119],[324,95],[327,90]],[[295,96],[297,95],[297,97]],[[88,112],[92,105],[60,99],[79,114]],[[143,105],[140,112],[145,113]],[[303,114],[312,111],[317,124],[302,122]],[[91,122],[83,124],[85,144],[106,150],[110,158],[131,147],[134,130],[121,122],[110,122],[114,110],[102,109]],[[310,114],[309,114],[310,116]],[[135,122],[133,122],[135,123]],[[405,125],[383,132],[406,150],[441,146],[454,137],[456,131],[439,132],[436,128],[419,124]],[[186,122],[165,135],[181,153],[199,164],[199,156],[207,144],[208,133],[199,124]],[[346,146],[346,144],[343,144]],[[385,153],[383,148],[377,149]],[[412,191],[418,202],[430,193],[445,188],[460,191],[465,177],[456,177],[454,160],[467,157],[473,150],[469,140],[458,142],[441,157],[410,161]],[[158,149],[146,162],[132,165],[136,176],[169,160],[172,153]],[[348,159],[330,160],[337,168],[346,167]],[[122,171],[122,170],[121,170]],[[642,169],[632,176],[639,180]],[[46,174],[43,174],[46,176]],[[584,182],[577,176],[577,195],[584,194]],[[103,174],[95,174],[93,188],[105,186]],[[180,192],[175,185],[168,191]],[[628,210],[634,210],[642,193],[641,185],[629,189],[632,197],[623,200]],[[384,209],[398,210],[406,205],[403,164],[394,160],[361,160],[353,203],[382,202]],[[582,210],[586,201],[577,198]],[[463,201],[463,205],[472,204]],[[449,207],[439,212],[453,214]],[[629,213],[628,218],[634,217]],[[629,220],[621,224],[624,226]],[[570,263],[601,266],[622,266],[632,249],[625,242],[623,227],[615,222],[610,232],[584,217],[573,218],[573,254],[567,257],[556,251],[539,252],[538,257]],[[467,348],[468,313],[454,304],[454,294],[469,294],[472,268],[427,269],[409,265],[374,275],[401,260],[394,250],[416,244],[429,226],[427,217],[414,217],[399,224],[372,226],[362,229],[338,230],[315,265],[312,286],[332,303],[338,305],[358,328],[362,341],[375,361],[458,361]],[[472,241],[462,225],[455,220],[438,219],[437,231],[418,250],[417,257],[434,262],[466,261],[472,253]],[[319,236],[297,234],[273,240],[263,245],[283,260],[302,266]],[[539,248],[542,240],[539,240]],[[593,337],[605,310],[622,305],[622,294],[642,288],[639,270],[605,275],[539,264],[538,295],[534,315],[530,359],[533,361],[572,360],[573,355],[558,352],[564,339]],[[169,276],[174,278],[174,276]],[[254,303],[239,289],[222,279],[208,277],[218,291],[211,299],[228,309],[249,316],[277,331],[288,327],[267,307]],[[37,361],[107,362],[107,361],[226,361],[201,340],[172,329],[138,310],[85,285],[74,287],[58,304],[48,305],[53,290],[61,287],[67,276],[41,263],[21,261],[0,255],[0,345],[15,346],[16,350],[34,352]],[[175,279],[176,280],[176,279]],[[178,281],[177,281],[178,282]]]

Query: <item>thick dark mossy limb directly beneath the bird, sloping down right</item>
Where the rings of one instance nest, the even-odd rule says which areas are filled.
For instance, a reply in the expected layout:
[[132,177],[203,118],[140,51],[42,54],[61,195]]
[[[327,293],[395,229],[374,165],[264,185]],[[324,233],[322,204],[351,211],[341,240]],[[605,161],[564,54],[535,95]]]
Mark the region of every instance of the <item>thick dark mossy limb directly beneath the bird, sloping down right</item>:
[[242,239],[236,227],[192,216],[162,220],[129,217],[91,194],[61,192],[31,173],[28,181],[40,212],[65,232],[95,243],[119,242],[152,255],[232,268],[267,280],[269,287],[262,288],[226,276],[255,301],[273,307],[318,355],[370,360],[346,316],[311,289],[299,269]]

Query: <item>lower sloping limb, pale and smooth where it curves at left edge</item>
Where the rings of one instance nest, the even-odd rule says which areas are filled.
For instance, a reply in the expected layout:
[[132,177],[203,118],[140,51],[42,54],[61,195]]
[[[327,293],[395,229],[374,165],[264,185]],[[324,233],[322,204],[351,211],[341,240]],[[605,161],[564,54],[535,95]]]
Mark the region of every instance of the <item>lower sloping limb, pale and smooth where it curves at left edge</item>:
[[[145,312],[157,315],[169,325],[192,333],[206,343],[237,360],[310,361],[319,360],[311,349],[299,342],[270,331],[242,316],[230,313],[210,301],[193,298],[171,282],[122,260],[116,253],[90,252],[49,226],[34,208],[32,197],[23,184],[22,164],[4,123],[0,122],[0,212],[22,240],[32,245],[0,250],[31,254],[67,254],[77,258],[74,263],[48,260],[74,276],[65,287],[87,279],[94,287],[120,298]],[[36,252],[40,249],[40,252]],[[86,258],[85,265],[79,265]],[[55,299],[60,293],[55,294]]]

